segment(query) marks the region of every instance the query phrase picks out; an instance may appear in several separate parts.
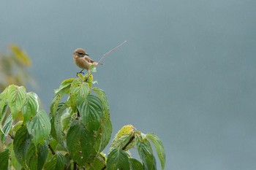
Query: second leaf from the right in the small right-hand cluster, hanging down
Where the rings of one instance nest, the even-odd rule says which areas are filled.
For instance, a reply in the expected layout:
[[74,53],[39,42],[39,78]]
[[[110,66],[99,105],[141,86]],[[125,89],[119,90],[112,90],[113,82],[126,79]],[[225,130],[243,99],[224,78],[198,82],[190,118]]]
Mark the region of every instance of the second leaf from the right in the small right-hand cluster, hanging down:
[[156,159],[154,158],[150,142],[146,138],[144,139],[142,134],[135,134],[135,141],[144,169],[157,169]]

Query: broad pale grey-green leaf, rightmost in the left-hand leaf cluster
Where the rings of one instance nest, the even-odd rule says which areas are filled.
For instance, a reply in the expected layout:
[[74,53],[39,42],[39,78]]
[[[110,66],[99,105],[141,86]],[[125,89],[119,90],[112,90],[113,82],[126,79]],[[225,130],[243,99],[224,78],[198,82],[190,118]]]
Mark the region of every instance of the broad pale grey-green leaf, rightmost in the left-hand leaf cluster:
[[29,134],[33,136],[34,144],[43,143],[50,134],[50,119],[43,109],[27,123]]

